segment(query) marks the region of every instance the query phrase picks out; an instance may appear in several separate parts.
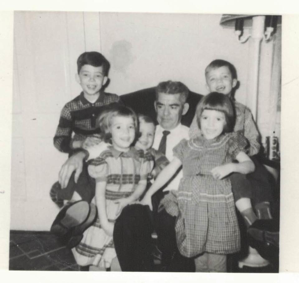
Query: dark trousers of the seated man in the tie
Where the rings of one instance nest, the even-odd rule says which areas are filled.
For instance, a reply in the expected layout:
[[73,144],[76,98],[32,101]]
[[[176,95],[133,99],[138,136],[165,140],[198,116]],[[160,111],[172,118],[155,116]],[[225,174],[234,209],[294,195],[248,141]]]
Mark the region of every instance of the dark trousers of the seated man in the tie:
[[162,271],[194,271],[194,259],[184,257],[178,251],[175,221],[176,217],[165,210],[153,213],[148,206],[126,206],[116,219],[113,231],[114,247],[121,270],[153,271],[151,233],[155,229],[162,251]]

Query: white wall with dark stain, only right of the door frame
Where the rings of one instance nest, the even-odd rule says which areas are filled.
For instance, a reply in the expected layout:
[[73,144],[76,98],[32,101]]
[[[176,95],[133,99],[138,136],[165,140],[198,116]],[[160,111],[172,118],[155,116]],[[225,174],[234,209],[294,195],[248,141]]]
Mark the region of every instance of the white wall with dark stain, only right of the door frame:
[[107,91],[124,94],[172,79],[206,94],[204,70],[222,58],[241,81],[237,99],[245,103],[248,44],[219,25],[221,15],[101,13],[102,52],[111,62]]

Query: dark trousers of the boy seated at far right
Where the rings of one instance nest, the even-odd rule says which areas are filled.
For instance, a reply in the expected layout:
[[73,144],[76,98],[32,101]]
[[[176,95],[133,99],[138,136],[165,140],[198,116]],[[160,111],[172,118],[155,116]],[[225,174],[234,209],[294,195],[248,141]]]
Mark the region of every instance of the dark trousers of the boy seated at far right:
[[257,160],[251,157],[255,170],[247,175],[233,173],[230,175],[231,188],[235,201],[240,198],[250,198],[255,206],[261,202],[273,202],[273,183],[270,173]]

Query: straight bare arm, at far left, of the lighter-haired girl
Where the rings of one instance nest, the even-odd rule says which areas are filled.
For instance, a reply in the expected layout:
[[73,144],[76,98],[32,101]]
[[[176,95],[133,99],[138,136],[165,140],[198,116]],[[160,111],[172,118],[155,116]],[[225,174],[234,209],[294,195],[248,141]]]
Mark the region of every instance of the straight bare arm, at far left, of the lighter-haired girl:
[[106,181],[96,182],[96,206],[97,213],[100,219],[101,227],[104,229],[107,235],[113,236],[114,224],[108,222],[107,213],[106,213]]

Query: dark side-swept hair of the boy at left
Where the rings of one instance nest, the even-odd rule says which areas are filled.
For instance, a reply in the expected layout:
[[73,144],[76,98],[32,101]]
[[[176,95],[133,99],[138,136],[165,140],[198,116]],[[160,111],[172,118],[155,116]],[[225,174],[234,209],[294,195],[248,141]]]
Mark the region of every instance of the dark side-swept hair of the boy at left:
[[107,76],[110,68],[109,61],[99,52],[90,51],[82,53],[77,60],[78,74],[84,65],[103,67],[103,75]]

